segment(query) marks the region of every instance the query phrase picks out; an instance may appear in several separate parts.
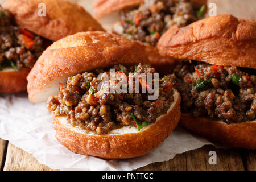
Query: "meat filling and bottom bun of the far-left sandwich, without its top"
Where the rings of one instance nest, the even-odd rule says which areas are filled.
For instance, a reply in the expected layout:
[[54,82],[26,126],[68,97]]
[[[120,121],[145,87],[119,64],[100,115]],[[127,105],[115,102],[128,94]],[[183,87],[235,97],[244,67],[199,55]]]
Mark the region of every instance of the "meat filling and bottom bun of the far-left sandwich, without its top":
[[43,39],[16,26],[9,11],[0,7],[0,93],[26,90],[26,77],[43,52]]

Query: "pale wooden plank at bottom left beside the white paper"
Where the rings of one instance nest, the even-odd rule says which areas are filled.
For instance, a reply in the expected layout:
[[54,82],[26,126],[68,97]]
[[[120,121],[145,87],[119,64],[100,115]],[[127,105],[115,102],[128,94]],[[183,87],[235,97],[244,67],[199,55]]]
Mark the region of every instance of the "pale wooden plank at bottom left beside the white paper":
[[31,154],[9,143],[4,171],[49,171],[49,167],[40,164]]

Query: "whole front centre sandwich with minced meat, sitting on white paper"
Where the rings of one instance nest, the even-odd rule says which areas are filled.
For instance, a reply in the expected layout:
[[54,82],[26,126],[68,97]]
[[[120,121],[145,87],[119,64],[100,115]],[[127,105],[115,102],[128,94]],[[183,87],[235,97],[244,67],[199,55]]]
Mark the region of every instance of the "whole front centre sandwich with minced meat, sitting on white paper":
[[32,102],[47,100],[61,144],[123,159],[150,152],[171,134],[180,95],[143,52],[138,42],[100,31],[67,36],[44,51],[27,77],[28,94]]

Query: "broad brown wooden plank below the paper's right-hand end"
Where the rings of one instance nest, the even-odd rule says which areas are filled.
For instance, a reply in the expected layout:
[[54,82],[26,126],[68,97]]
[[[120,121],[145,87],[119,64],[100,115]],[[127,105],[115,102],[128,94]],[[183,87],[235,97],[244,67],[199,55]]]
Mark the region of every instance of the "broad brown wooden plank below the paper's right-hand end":
[[[217,164],[210,165],[209,151],[216,151]],[[254,155],[255,156],[255,155]],[[245,170],[240,150],[218,149],[214,146],[204,146],[202,148],[177,154],[174,159],[167,162],[152,163],[138,170]]]

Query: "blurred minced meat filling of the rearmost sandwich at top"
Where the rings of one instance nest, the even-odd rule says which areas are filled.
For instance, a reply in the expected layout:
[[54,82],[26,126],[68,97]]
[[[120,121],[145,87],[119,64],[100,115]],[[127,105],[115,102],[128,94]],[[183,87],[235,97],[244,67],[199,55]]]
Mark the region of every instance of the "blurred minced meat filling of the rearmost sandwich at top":
[[123,34],[154,46],[171,26],[183,27],[195,22],[202,15],[197,12],[187,0],[145,1],[137,9],[121,12]]

